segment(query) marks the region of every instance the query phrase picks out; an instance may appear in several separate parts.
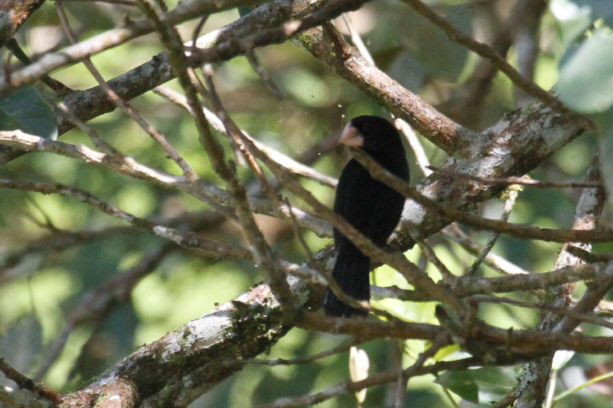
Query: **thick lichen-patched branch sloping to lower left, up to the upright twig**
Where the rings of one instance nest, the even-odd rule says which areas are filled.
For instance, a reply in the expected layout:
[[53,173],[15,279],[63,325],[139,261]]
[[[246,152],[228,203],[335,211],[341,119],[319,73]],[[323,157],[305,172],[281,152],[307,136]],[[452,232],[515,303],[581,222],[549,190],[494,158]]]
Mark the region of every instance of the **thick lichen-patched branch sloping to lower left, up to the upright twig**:
[[[292,281],[292,289],[307,299],[307,288],[299,281]],[[282,316],[268,286],[256,286],[140,347],[88,387],[64,396],[60,407],[89,406],[93,401],[96,406],[110,406],[115,395],[122,402],[139,396],[152,407],[187,406],[187,398],[197,398],[243,366],[221,361],[253,358],[285,335],[289,327],[281,325]],[[183,382],[195,375],[197,381]],[[199,392],[191,393],[194,389]]]

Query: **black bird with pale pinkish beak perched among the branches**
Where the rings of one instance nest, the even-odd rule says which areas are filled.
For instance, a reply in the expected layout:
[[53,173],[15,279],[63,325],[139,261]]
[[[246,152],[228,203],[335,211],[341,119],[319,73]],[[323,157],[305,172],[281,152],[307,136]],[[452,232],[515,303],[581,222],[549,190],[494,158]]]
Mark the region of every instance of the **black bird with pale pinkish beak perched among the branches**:
[[[400,135],[383,117],[355,117],[343,129],[338,142],[360,147],[388,171],[408,180],[409,167]],[[404,203],[404,196],[373,179],[367,169],[352,159],[343,168],[338,180],[334,212],[378,247],[383,247],[400,220]],[[354,299],[370,299],[370,258],[336,228],[333,232],[337,253],[333,278]],[[327,316],[351,317],[366,316],[367,311],[341,302],[328,287],[324,294],[324,313]]]

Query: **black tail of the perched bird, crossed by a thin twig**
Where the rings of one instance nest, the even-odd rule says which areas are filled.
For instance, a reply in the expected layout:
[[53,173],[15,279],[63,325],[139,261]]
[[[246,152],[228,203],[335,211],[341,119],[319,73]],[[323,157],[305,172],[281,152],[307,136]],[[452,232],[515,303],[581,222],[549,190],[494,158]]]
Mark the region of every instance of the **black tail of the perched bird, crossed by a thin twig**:
[[[332,277],[343,291],[357,300],[370,299],[370,258],[359,254],[338,254],[332,270]],[[367,311],[352,308],[341,302],[328,287],[324,294],[324,313],[333,317],[366,316]]]

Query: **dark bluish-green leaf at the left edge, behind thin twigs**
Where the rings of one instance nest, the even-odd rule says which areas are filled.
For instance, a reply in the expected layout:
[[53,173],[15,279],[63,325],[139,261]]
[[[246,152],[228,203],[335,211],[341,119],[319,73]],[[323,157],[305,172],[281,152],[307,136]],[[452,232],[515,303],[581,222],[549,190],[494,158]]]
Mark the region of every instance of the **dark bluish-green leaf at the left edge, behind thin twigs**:
[[43,138],[58,138],[55,115],[32,86],[0,98],[0,130],[16,129]]

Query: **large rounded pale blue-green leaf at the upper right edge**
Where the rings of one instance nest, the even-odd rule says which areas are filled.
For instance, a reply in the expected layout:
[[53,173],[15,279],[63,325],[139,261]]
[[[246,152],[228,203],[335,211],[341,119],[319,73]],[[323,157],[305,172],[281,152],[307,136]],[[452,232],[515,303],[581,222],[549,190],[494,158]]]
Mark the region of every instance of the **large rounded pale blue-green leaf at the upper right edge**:
[[602,112],[613,105],[612,73],[613,34],[600,29],[563,65],[555,89],[569,108]]

